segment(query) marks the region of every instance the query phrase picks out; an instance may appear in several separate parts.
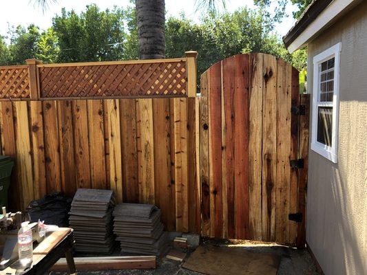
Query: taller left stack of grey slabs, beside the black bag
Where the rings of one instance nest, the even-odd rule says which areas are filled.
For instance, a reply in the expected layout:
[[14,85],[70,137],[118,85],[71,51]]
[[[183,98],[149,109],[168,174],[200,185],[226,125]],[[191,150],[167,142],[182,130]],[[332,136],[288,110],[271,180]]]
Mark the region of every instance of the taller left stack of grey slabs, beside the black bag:
[[115,246],[112,230],[114,205],[112,190],[81,188],[76,191],[69,213],[76,252],[112,253]]

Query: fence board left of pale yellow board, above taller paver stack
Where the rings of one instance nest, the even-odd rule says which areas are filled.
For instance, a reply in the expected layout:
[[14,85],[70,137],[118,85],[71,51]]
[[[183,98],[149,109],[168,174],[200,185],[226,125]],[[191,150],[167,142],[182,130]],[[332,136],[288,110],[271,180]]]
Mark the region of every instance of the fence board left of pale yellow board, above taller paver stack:
[[102,100],[87,100],[92,188],[106,188],[105,133]]

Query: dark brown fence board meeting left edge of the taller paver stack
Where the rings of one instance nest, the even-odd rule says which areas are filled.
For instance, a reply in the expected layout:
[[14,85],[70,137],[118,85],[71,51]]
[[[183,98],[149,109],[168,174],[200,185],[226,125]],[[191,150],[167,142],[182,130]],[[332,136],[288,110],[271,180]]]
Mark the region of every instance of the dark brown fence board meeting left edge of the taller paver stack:
[[68,197],[72,197],[76,191],[72,102],[70,100],[57,101],[57,111],[59,118],[61,190]]

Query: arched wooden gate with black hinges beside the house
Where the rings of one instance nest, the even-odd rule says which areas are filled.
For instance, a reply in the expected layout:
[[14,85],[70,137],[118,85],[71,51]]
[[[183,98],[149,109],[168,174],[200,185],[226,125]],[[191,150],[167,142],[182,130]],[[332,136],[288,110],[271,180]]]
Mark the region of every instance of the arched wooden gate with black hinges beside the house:
[[200,85],[202,234],[304,245],[308,97],[297,69],[239,54]]

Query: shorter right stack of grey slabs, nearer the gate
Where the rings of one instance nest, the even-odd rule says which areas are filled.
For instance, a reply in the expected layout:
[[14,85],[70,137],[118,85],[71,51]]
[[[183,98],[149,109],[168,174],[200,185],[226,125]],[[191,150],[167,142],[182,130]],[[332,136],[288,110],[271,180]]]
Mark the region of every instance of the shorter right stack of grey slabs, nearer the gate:
[[160,256],[168,250],[160,209],[151,204],[120,203],[114,209],[114,233],[121,253]]

